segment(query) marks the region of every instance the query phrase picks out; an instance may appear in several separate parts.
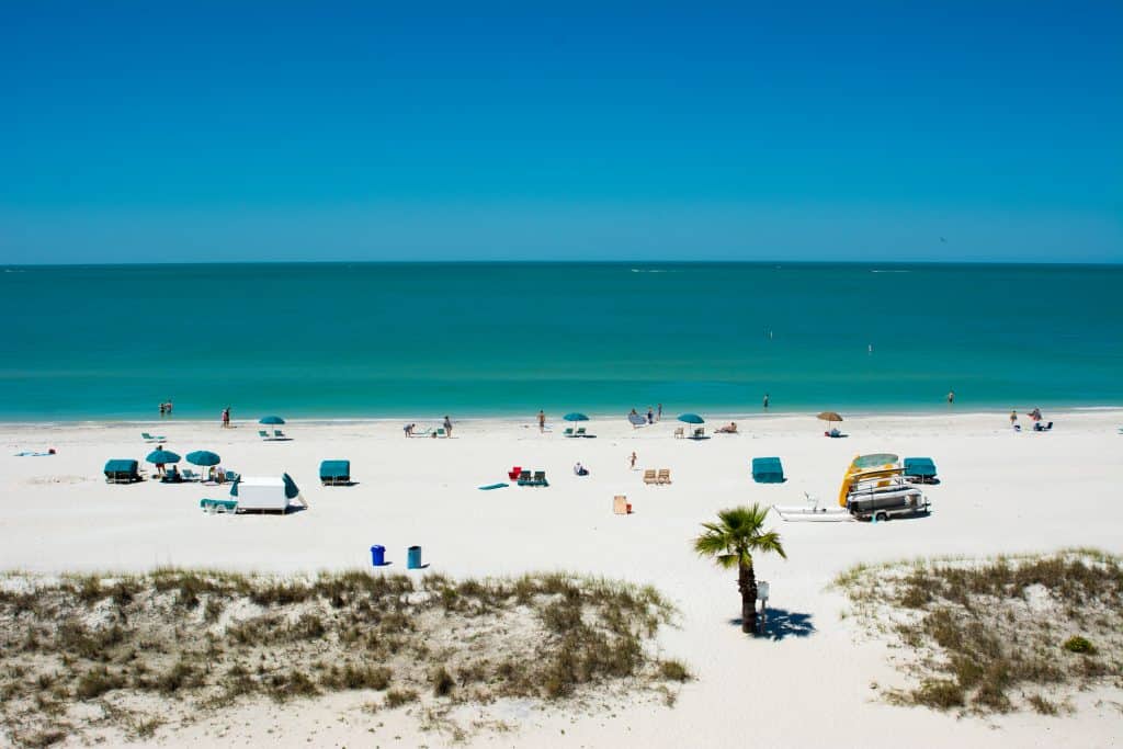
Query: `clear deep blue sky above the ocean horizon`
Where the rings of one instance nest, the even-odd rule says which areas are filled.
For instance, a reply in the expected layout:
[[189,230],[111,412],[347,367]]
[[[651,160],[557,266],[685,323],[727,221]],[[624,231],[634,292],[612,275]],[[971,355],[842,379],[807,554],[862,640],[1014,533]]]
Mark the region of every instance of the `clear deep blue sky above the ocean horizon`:
[[312,4],[0,4],[0,262],[1123,262],[1117,1]]

